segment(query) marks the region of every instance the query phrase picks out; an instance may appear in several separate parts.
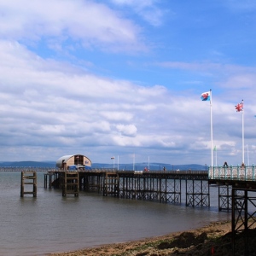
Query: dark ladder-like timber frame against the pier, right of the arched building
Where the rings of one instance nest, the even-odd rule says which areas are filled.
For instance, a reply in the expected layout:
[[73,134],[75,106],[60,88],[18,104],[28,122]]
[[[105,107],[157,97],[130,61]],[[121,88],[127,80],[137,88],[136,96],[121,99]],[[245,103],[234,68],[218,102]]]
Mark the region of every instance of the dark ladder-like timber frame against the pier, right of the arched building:
[[119,196],[119,175],[116,172],[106,172],[103,184],[103,195]]

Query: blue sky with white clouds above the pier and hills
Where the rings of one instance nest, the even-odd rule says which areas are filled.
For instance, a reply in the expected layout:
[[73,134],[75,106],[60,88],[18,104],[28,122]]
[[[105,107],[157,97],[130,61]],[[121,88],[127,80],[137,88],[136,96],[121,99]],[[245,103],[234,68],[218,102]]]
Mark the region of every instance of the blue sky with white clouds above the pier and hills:
[[0,161],[256,164],[255,45],[254,0],[0,0]]

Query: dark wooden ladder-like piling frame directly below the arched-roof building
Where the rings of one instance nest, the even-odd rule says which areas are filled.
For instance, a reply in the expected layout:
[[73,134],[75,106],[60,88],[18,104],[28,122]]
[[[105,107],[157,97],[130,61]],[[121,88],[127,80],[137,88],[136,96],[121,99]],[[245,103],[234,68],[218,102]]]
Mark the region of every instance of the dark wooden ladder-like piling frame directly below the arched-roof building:
[[62,177],[62,196],[79,196],[79,172],[64,172]]

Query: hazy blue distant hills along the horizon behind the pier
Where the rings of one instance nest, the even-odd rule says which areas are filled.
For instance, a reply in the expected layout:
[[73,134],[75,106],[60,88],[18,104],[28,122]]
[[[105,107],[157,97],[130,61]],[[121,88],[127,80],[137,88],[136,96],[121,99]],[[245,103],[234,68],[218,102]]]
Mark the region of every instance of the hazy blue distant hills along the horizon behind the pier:
[[[55,161],[4,161],[0,162],[0,166],[12,166],[12,167],[51,167],[54,168],[56,166]],[[170,164],[165,164],[165,163],[149,163],[149,170],[151,171],[162,171],[164,166],[166,167],[166,171],[203,171],[206,170],[206,166],[201,166],[201,165],[170,165]],[[133,164],[119,164],[117,163],[114,164],[115,168],[119,167],[119,170],[127,170],[131,171],[133,170]],[[135,171],[143,171],[144,168],[148,168],[148,163],[136,163],[134,165],[134,170]],[[92,168],[113,168],[113,164],[104,164],[104,163],[93,163]]]

